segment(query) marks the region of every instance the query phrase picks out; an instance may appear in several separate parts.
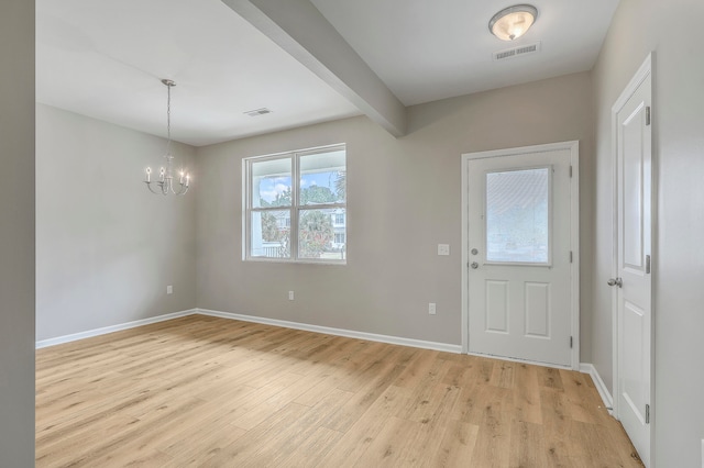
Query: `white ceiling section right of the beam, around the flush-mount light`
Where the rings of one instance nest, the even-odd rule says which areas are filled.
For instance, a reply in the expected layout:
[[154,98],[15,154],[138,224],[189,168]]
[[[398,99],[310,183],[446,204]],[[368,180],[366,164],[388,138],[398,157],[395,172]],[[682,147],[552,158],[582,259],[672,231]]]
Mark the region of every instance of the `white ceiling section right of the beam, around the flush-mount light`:
[[[406,105],[592,69],[618,0],[530,0],[538,20],[514,42],[488,21],[512,0],[311,0]],[[494,52],[541,42],[539,54]]]

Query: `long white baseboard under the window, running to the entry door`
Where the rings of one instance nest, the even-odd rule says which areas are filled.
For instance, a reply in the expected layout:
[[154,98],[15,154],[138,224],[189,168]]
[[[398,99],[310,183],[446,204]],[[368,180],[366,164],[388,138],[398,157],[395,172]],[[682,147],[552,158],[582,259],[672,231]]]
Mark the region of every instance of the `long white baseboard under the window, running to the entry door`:
[[285,320],[266,319],[255,315],[243,315],[231,312],[211,311],[197,309],[202,315],[218,316],[221,319],[241,320],[243,322],[261,323],[264,325],[282,326],[285,328],[302,330],[305,332],[323,333],[326,335],[344,336],[348,338],[366,339],[370,342],[388,343],[392,345],[410,346],[415,348],[433,349],[446,353],[461,354],[461,345],[450,345],[447,343],[425,342],[422,339],[402,338],[399,336],[377,335],[375,333],[355,332],[352,330],[332,328],[328,326],[310,325],[307,323],[288,322]]

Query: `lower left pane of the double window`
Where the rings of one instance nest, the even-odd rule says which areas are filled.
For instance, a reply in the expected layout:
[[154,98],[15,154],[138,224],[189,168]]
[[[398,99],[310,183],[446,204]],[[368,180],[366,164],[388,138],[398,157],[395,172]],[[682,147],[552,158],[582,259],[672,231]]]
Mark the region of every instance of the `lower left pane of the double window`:
[[252,257],[290,258],[290,210],[252,211]]

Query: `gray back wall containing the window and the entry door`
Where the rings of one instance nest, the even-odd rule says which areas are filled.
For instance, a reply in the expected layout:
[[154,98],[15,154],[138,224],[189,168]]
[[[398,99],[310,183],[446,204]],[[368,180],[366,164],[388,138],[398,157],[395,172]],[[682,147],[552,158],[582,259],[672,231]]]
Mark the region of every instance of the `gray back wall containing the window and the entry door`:
[[[354,118],[198,148],[198,307],[459,345],[461,154],[579,140],[588,230],[592,138],[591,78],[576,74],[413,107],[398,140]],[[348,145],[348,265],[243,263],[242,158],[333,143]],[[450,244],[449,257],[437,255],[438,243]]]

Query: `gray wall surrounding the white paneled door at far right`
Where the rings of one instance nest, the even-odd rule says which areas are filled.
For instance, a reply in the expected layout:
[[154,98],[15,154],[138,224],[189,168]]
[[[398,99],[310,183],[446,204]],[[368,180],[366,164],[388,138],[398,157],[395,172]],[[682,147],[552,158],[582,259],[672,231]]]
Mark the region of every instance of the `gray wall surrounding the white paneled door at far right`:
[[704,438],[704,2],[623,0],[594,69],[596,201],[593,361],[612,385],[610,108],[647,54],[653,67],[658,224],[653,257],[658,467],[701,466]]

